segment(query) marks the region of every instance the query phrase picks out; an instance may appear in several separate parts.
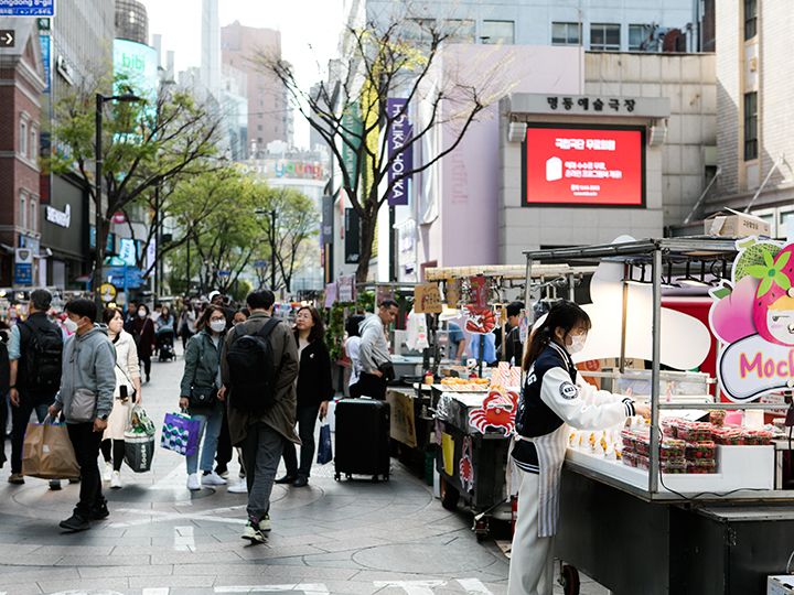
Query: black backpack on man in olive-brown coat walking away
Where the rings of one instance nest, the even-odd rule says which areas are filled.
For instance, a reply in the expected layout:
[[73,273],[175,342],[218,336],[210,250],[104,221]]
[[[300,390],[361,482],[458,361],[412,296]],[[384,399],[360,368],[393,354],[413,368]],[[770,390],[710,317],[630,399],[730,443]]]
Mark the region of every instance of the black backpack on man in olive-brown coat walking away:
[[270,318],[258,333],[235,338],[229,346],[229,407],[261,414],[275,402],[276,363],[270,333],[278,324],[278,320]]

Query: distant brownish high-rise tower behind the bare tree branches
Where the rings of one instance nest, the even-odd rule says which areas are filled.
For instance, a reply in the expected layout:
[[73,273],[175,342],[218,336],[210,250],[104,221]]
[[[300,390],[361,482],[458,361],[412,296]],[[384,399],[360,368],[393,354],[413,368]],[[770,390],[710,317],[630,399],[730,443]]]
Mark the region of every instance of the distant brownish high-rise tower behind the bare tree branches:
[[221,29],[223,63],[244,72],[247,77],[250,156],[264,156],[272,141],[292,142],[292,112],[287,89],[275,75],[253,62],[258,51],[280,60],[281,33],[245,26],[238,21]]

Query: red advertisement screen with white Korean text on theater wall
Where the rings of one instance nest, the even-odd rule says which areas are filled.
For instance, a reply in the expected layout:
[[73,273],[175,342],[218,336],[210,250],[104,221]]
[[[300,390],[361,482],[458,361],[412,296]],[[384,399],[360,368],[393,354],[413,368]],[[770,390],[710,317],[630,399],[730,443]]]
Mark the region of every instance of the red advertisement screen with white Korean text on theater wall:
[[642,129],[527,128],[525,205],[645,205]]

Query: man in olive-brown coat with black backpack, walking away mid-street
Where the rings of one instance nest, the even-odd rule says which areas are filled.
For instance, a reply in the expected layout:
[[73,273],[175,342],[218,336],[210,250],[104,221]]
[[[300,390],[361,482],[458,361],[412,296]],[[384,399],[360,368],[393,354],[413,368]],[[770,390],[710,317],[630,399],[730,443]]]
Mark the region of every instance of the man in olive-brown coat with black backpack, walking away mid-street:
[[218,397],[227,400],[232,444],[243,446],[248,522],[242,537],[264,543],[283,441],[300,444],[294,429],[298,346],[289,325],[272,317],[272,291],[251,292],[246,302],[250,317],[226,336]]

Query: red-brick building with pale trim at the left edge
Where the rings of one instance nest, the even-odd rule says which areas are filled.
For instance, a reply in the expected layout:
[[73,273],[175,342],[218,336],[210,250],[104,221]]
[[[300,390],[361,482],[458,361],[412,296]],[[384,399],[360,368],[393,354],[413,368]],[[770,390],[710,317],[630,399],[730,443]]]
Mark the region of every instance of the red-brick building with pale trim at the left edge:
[[[35,19],[0,18],[13,47],[0,47],[0,286],[37,274],[42,91],[46,85]],[[24,273],[17,268],[23,249]],[[29,267],[32,264],[32,267]]]

